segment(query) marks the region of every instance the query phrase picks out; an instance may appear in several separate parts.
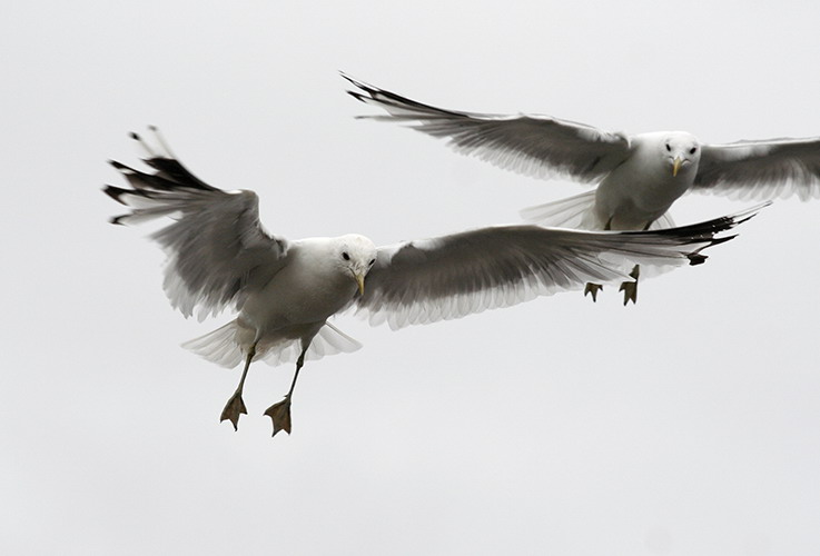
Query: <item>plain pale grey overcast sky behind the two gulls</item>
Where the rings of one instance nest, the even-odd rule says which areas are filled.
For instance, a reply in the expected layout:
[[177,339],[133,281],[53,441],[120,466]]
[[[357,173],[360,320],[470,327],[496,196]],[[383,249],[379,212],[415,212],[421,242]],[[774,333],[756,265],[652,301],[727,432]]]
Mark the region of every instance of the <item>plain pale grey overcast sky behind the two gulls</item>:
[[[820,201],[709,261],[392,331],[293,368],[179,344],[162,255],[112,227],[157,125],[288,238],[377,245],[515,222],[583,191],[457,156],[344,93],[344,70],[462,110],[707,142],[820,132],[810,2],[19,2],[0,19],[4,554],[820,553]],[[752,202],[689,196],[681,224]]]

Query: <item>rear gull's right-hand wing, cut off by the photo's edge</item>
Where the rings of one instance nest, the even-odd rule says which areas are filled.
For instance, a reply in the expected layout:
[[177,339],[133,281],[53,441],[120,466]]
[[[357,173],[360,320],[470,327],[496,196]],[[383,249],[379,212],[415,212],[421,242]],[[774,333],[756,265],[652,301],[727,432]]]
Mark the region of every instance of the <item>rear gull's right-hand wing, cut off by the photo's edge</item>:
[[693,191],[737,198],[820,197],[820,138],[704,145]]

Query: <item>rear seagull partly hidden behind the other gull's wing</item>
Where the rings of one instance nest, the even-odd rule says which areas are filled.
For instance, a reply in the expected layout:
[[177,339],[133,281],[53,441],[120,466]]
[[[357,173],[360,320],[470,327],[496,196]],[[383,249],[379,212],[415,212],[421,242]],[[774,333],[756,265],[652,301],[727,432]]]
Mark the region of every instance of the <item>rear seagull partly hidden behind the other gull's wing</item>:
[[[457,152],[536,177],[564,177],[597,187],[574,197],[524,209],[544,226],[586,230],[649,230],[674,226],[668,211],[688,191],[735,198],[820,197],[820,137],[702,143],[685,131],[626,135],[541,115],[462,112],[424,105],[342,73],[357,100],[387,116],[444,138]],[[624,282],[624,305],[636,301],[634,281]],[[584,295],[596,299],[600,285]]]

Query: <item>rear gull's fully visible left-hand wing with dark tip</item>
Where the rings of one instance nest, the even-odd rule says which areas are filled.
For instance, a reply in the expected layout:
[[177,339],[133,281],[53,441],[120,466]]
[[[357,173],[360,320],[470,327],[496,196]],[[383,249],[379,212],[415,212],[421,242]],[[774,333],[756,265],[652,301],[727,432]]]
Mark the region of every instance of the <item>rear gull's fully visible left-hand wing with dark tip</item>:
[[456,151],[475,155],[500,168],[525,176],[565,176],[592,182],[620,165],[630,151],[623,133],[559,120],[549,116],[498,116],[458,112],[423,105],[342,75],[359,91],[347,91],[389,116],[375,120],[413,122],[429,136],[446,138]]

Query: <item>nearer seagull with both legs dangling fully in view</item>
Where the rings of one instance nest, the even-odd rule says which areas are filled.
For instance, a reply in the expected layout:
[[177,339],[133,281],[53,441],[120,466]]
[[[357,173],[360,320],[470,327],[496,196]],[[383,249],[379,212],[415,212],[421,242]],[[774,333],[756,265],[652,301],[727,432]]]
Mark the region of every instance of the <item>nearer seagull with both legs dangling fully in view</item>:
[[226,309],[237,312],[184,344],[224,367],[244,363],[220,421],[229,420],[236,430],[247,415],[243,390],[251,363],[296,361],[290,389],[264,413],[274,436],[290,434],[292,398],[305,359],[362,347],[328,321],[334,315],[350,310],[396,329],[580,289],[589,280],[629,279],[622,269],[633,264],[698,265],[705,260],[703,249],[735,237],[719,234],[761,208],[645,232],[516,225],[383,247],[358,234],[289,240],[263,228],[254,191],[206,183],[179,162],[155,127],[149,129],[154,146],[131,133],[146,153],[147,171],[110,161],[130,186],[103,188],[130,209],[111,222],[170,220],[150,238],[168,257],[164,288],[171,306],[200,321]]

